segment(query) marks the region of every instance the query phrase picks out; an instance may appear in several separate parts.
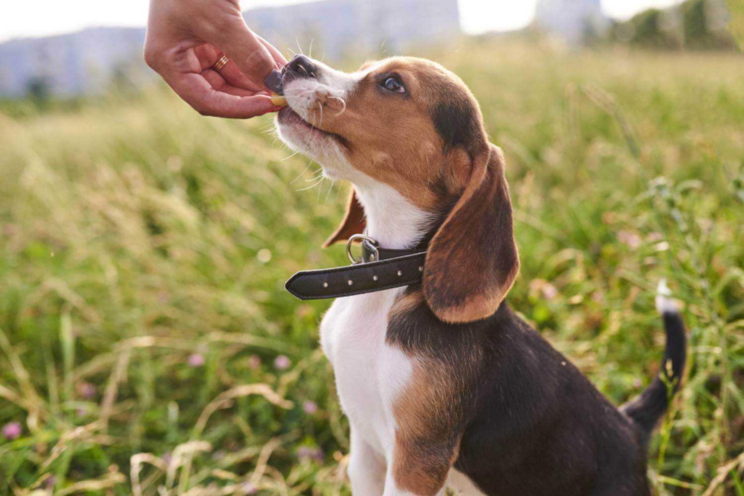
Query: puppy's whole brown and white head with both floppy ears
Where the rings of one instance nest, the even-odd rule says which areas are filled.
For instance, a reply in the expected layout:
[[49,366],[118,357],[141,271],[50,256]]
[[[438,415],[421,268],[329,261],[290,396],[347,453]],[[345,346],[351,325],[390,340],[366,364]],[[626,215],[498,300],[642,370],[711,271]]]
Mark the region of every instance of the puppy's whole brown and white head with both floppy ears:
[[[426,59],[392,57],[347,74],[298,56],[283,76],[280,138],[330,178],[392,187],[437,225],[423,294],[446,322],[496,311],[519,269],[501,149],[467,86]],[[371,186],[370,186],[371,185]],[[327,245],[365,228],[352,195]]]

